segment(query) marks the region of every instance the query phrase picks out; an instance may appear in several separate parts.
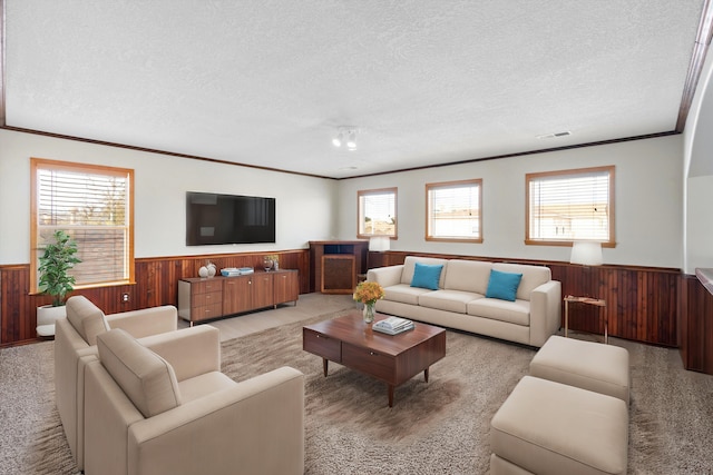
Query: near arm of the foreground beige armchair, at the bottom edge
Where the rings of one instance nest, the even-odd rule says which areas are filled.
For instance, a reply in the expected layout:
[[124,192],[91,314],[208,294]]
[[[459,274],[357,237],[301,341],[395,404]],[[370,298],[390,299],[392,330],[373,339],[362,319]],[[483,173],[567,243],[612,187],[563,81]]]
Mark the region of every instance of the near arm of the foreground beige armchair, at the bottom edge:
[[128,445],[133,474],[302,474],[304,375],[282,367],[138,420]]

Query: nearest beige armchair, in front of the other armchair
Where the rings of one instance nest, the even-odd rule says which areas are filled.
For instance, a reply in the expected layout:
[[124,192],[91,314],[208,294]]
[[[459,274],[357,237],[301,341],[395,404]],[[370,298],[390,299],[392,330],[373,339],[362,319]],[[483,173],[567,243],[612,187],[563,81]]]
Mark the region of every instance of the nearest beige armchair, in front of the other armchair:
[[[185,338],[98,337],[85,382],[87,475],[302,474],[304,375],[236,383],[209,326]],[[144,346],[146,345],[146,346]]]

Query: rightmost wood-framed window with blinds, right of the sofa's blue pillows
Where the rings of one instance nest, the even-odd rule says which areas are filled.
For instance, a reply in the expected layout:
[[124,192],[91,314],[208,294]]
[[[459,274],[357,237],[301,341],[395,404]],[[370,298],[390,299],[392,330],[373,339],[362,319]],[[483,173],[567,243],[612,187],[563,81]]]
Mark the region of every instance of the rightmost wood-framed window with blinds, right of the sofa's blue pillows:
[[526,244],[614,246],[614,167],[526,176]]

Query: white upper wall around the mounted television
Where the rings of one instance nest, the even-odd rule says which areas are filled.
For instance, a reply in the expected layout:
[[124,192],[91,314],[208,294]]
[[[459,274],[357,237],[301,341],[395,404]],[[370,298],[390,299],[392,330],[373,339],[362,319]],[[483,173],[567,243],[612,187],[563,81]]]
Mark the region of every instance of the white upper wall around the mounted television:
[[[30,157],[135,170],[136,257],[306,248],[335,235],[338,181],[0,130],[0,265],[30,260]],[[276,198],[276,243],[185,245],[186,191]]]

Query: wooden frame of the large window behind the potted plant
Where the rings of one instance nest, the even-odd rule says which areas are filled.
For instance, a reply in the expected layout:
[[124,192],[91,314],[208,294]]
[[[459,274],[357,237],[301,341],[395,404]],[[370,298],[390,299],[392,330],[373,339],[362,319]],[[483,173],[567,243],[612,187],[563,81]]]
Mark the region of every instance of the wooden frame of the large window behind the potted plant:
[[[129,201],[127,206],[127,244],[125,266],[127,271],[127,278],[111,281],[96,281],[96,283],[78,283],[74,286],[75,289],[82,288],[99,288],[111,287],[120,285],[134,285],[136,284],[135,275],[135,258],[134,258],[134,170],[129,168],[108,167],[102,165],[79,164],[62,160],[50,160],[45,158],[30,157],[30,291],[31,294],[39,294],[38,288],[38,267],[39,257],[42,255],[42,249],[38,245],[39,232],[39,190],[38,182],[39,170],[66,170],[77,174],[91,174],[91,175],[105,175],[107,177],[121,177],[127,180],[126,199]],[[82,227],[76,227],[75,229],[81,229]],[[71,226],[61,228],[69,231],[71,235]],[[81,249],[80,249],[81,253]]]

